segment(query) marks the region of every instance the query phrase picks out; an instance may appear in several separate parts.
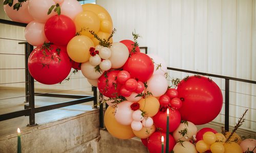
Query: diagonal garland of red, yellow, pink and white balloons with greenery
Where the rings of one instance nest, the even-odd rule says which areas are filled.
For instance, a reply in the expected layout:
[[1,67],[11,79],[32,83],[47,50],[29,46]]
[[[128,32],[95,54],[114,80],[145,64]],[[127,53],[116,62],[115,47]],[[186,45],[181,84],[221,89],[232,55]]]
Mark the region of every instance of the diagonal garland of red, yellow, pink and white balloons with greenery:
[[[13,8],[12,8],[13,6]],[[17,11],[16,11],[16,10]],[[32,77],[56,84],[71,67],[81,70],[109,106],[104,123],[119,139],[141,138],[150,152],[253,152],[256,140],[199,124],[212,121],[221,111],[222,93],[214,81],[200,75],[173,79],[168,86],[167,66],[161,57],[140,53],[137,39],[113,42],[113,21],[103,7],[80,5],[75,0],[5,0],[4,10],[14,21],[28,23],[26,40],[36,46],[29,57]],[[67,79],[69,80],[69,78]],[[166,110],[169,124],[166,125]],[[166,134],[166,131],[170,133]],[[240,144],[240,145],[239,145]]]

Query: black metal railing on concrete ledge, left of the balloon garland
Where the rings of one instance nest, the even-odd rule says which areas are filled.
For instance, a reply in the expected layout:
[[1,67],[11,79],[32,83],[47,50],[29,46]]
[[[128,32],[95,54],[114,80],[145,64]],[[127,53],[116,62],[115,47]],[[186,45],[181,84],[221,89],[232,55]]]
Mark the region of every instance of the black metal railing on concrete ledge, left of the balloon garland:
[[[9,20],[0,19],[0,23],[15,25],[19,27],[26,27],[27,24],[19,23]],[[58,109],[62,107],[67,107],[71,105],[86,103],[88,101],[94,101],[94,108],[97,108],[97,87],[93,87],[93,95],[74,95],[74,94],[53,94],[53,93],[34,93],[34,79],[28,71],[28,57],[33,50],[33,45],[28,42],[20,42],[19,44],[25,44],[25,94],[26,101],[29,104],[25,105],[24,110],[10,112],[0,115],[0,121],[16,118],[20,116],[29,116],[28,126],[37,125],[35,122],[35,113],[49,111],[53,109]],[[11,55],[11,54],[10,54]],[[43,107],[35,108],[35,95],[36,96],[50,96],[50,97],[60,97],[60,98],[73,98],[75,100],[64,101],[62,103],[48,105]]]

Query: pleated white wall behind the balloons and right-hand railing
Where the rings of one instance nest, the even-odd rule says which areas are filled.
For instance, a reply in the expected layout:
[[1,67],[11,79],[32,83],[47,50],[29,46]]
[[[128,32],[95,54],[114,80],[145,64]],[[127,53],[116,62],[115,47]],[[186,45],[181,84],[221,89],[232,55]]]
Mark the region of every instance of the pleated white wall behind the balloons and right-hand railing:
[[[114,41],[133,39],[136,30],[142,36],[140,46],[161,56],[169,67],[256,80],[255,0],[97,0],[96,4],[112,16],[117,29]],[[183,78],[187,73],[169,71],[169,75]],[[224,95],[224,80],[212,79]],[[255,131],[256,85],[230,81],[229,94],[230,124],[251,108],[243,127]],[[224,116],[215,121],[223,123]]]

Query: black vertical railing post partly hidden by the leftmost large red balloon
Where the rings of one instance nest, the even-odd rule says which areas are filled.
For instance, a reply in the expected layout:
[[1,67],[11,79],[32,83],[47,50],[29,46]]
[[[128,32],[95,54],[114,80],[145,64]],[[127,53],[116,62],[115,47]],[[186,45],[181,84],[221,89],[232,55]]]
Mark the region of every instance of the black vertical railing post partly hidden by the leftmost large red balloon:
[[[33,50],[33,45],[28,45],[28,56],[31,54]],[[28,71],[28,69],[27,69]],[[35,93],[34,93],[34,78],[31,76],[31,74],[28,71],[28,89],[29,89],[29,108],[31,110],[29,115],[29,124],[28,126],[36,126],[35,123]]]

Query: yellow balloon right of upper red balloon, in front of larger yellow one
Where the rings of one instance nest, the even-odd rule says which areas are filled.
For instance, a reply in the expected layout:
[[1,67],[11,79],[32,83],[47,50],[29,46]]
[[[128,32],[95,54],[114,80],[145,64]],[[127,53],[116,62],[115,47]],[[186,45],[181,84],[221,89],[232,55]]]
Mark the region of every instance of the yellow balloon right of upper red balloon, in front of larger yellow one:
[[94,31],[97,34],[100,29],[100,19],[91,11],[83,11],[77,14],[74,23],[76,25],[76,32],[81,31],[82,35],[90,38],[93,35],[89,31]]

